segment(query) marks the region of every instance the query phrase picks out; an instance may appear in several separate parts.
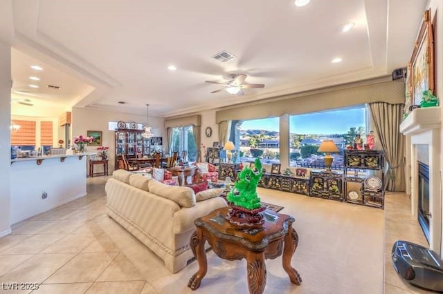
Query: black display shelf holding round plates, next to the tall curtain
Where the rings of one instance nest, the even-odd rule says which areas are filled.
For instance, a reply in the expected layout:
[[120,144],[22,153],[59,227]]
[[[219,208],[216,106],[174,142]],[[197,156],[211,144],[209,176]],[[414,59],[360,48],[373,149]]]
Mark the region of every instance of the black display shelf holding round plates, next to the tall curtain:
[[[354,204],[384,207],[384,152],[379,150],[345,150],[345,199]],[[367,170],[373,170],[368,175]],[[352,174],[354,172],[354,175]],[[365,172],[365,177],[359,172]]]

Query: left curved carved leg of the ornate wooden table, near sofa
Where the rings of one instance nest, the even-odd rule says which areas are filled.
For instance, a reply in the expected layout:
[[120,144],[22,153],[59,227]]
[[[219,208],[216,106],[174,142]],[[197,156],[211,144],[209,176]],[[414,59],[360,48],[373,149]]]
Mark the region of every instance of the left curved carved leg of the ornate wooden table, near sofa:
[[192,234],[189,242],[192,253],[194,253],[195,258],[197,258],[197,262],[199,262],[199,271],[192,275],[188,282],[188,287],[190,287],[192,290],[199,288],[201,280],[206,275],[206,271],[208,271],[208,262],[206,260],[205,252],[205,240],[201,238],[201,235],[201,228],[197,228],[197,231]]

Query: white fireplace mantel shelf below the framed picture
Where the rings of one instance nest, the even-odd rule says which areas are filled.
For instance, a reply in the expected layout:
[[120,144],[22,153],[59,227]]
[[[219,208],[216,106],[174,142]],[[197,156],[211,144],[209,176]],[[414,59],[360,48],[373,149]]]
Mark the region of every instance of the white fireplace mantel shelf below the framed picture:
[[442,109],[438,107],[417,108],[410,112],[400,124],[400,133],[403,135],[417,135],[426,130],[441,127]]

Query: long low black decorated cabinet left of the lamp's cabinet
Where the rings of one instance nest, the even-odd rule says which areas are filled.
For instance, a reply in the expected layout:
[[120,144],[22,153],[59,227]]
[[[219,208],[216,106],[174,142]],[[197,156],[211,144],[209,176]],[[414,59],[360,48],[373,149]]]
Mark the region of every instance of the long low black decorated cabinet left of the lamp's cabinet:
[[290,193],[309,195],[309,178],[264,173],[259,186]]

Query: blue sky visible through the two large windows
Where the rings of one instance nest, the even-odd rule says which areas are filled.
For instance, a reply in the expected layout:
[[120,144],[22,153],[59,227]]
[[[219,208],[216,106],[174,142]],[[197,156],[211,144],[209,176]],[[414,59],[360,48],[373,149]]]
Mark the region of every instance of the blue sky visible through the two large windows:
[[[365,126],[365,109],[352,108],[293,115],[289,119],[289,132],[298,134],[343,134],[352,127]],[[244,121],[242,130],[279,131],[279,118]]]

